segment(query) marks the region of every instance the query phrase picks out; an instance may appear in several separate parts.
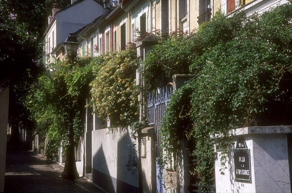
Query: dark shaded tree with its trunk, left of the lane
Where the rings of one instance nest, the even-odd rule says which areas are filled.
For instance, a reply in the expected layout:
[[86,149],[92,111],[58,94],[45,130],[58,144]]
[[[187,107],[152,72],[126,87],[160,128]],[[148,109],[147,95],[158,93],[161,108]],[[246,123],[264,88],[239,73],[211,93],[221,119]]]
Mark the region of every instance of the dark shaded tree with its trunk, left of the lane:
[[[60,0],[58,5],[65,1],[70,2]],[[11,141],[19,141],[18,126],[31,128],[21,101],[44,70],[42,34],[52,7],[53,0],[0,0],[0,89],[10,88]]]

